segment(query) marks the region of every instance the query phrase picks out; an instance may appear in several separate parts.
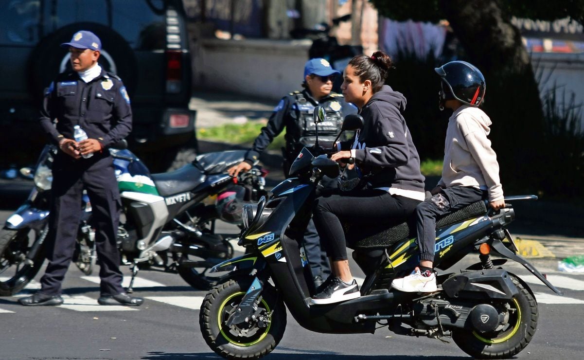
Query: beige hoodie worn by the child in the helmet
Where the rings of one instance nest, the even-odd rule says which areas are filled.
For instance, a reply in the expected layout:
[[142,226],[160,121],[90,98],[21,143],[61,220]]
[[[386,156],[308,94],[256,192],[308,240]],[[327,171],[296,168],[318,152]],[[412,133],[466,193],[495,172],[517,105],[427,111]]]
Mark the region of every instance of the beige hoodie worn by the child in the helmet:
[[444,166],[438,185],[475,186],[488,191],[489,201],[503,199],[497,155],[488,136],[491,119],[479,108],[463,105],[448,121]]

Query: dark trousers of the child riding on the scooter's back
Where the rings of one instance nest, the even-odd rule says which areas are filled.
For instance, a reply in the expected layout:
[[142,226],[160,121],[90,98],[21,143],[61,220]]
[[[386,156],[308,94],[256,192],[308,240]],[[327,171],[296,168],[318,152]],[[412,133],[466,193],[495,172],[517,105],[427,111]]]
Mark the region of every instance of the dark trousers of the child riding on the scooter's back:
[[416,229],[420,260],[434,261],[436,218],[486,197],[486,191],[472,186],[451,186],[416,207]]

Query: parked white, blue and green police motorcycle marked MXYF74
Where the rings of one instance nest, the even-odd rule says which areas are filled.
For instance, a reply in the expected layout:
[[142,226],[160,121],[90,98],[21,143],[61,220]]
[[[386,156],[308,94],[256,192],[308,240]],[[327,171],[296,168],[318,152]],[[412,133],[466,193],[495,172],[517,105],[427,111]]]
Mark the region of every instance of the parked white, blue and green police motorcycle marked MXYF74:
[[[173,172],[150,174],[125,141],[110,148],[120,189],[122,211],[117,243],[123,264],[132,268],[128,292],[139,269],[159,266],[178,274],[194,288],[208,289],[217,278],[207,276],[213,265],[233,255],[230,237],[215,232],[215,220],[241,224],[244,203],[265,195],[263,169],[255,166],[238,178],[227,168],[244,160],[245,151],[223,151],[196,157]],[[44,262],[48,231],[51,165],[57,148],[47,145],[34,169],[28,199],[0,230],[0,296],[22,290]],[[84,193],[74,262],[86,275],[95,264],[95,230],[91,202]]]

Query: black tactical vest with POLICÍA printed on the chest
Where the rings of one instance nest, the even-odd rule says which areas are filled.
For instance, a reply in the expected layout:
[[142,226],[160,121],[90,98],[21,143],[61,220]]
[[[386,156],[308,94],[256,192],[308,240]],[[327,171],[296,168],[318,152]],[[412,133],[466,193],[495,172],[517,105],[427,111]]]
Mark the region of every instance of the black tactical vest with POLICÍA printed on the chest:
[[[292,134],[289,131],[286,134],[286,147],[293,158],[304,146],[314,146],[317,137],[317,127],[314,123],[315,105],[301,93],[294,93],[294,98],[296,101],[292,105],[292,110],[296,113],[298,126]],[[319,105],[325,109],[326,120],[318,124],[318,144],[324,148],[331,148],[343,124],[342,103],[332,98]]]

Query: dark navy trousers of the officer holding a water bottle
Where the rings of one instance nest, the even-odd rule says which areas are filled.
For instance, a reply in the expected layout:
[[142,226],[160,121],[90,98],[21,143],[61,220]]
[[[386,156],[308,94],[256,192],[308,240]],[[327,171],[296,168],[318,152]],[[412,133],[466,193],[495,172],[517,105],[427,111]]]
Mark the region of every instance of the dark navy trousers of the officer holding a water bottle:
[[41,278],[41,293],[60,295],[61,283],[71,264],[86,189],[92,206],[95,244],[99,260],[101,295],[123,293],[120,254],[116,237],[121,209],[120,193],[109,153],[74,160],[59,153],[53,163],[51,213],[47,234],[47,270]]

